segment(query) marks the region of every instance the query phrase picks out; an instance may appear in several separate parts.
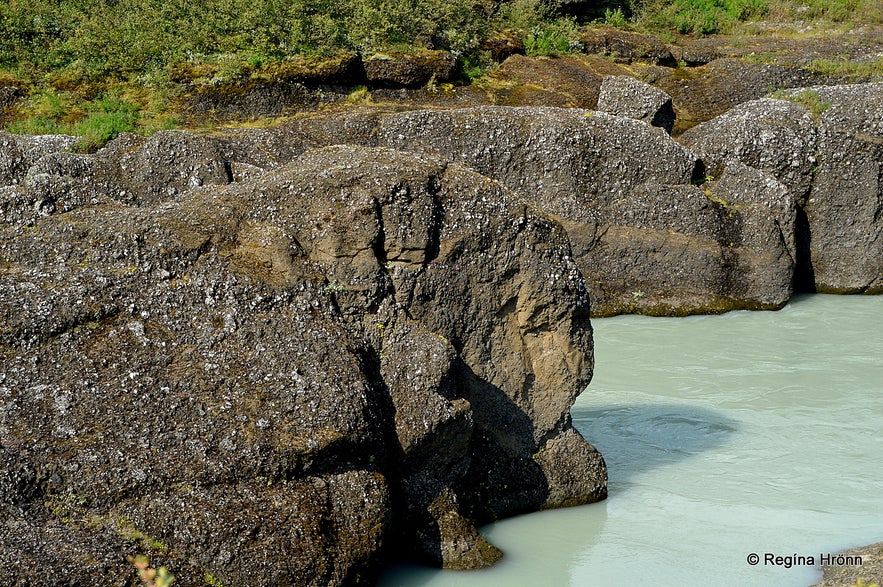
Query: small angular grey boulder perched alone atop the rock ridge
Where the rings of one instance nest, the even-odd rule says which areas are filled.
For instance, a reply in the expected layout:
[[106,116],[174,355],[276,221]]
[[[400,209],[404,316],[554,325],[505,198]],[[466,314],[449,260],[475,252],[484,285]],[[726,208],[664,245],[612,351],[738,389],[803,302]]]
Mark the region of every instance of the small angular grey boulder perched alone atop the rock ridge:
[[665,129],[669,134],[675,123],[671,96],[627,75],[604,78],[598,97],[598,110],[643,120]]

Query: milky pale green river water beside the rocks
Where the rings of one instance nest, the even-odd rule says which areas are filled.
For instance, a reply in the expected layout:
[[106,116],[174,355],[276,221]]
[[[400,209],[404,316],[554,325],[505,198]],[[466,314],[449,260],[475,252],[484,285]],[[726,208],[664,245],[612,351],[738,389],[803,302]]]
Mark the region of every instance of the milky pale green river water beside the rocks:
[[484,528],[506,553],[493,569],[400,567],[382,587],[806,587],[817,567],[764,553],[818,562],[883,540],[883,296],[594,324],[572,413],[607,459],[608,500]]

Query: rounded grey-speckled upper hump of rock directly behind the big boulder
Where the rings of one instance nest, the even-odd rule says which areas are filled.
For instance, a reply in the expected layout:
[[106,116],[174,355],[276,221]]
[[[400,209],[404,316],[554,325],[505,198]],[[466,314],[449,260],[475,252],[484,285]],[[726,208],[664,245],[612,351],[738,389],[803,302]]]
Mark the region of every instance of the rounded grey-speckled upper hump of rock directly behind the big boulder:
[[381,119],[377,142],[463,162],[541,209],[580,221],[637,185],[689,183],[697,162],[660,129],[561,108],[394,113]]

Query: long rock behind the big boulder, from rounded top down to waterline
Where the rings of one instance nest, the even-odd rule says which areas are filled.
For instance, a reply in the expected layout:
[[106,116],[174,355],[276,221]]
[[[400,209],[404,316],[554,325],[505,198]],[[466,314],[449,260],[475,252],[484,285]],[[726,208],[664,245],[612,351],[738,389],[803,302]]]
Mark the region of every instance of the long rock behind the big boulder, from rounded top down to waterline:
[[745,168],[706,194],[691,184],[696,157],[646,124],[541,108],[403,112],[381,120],[377,141],[467,163],[561,219],[596,316],[770,309],[793,292],[787,189]]

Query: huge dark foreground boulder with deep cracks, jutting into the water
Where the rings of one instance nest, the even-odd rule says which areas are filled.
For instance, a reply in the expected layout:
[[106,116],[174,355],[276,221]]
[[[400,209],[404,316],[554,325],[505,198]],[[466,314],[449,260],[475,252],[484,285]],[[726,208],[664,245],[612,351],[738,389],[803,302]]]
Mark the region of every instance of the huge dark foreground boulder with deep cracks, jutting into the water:
[[570,423],[591,327],[558,223],[387,149],[244,161],[251,179],[221,185],[229,145],[203,140],[124,137],[24,172],[55,192],[124,161],[146,180],[164,145],[168,191],[95,181],[33,217],[27,185],[3,188],[16,580],[124,583],[135,552],[181,585],[355,584],[390,550],[475,568],[500,553],[473,523],[604,497]]

